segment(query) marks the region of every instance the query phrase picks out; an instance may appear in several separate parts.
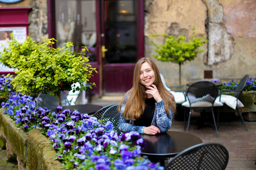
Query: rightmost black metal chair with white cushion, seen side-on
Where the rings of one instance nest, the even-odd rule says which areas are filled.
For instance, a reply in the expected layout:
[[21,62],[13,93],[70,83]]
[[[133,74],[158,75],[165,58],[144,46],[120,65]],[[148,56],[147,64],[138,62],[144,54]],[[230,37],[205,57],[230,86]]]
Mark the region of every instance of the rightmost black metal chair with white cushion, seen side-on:
[[[238,112],[238,114],[239,114],[239,116],[241,118],[242,124],[245,126],[246,130],[247,130],[247,128],[246,128],[246,125],[245,125],[245,121],[243,121],[243,117],[242,117],[242,114],[241,114],[240,109],[239,109],[239,105],[238,104],[240,103],[240,100],[238,100],[238,98],[242,95],[243,88],[245,88],[245,84],[246,84],[248,79],[249,79],[249,75],[247,74],[247,75],[243,76],[243,78],[241,79],[240,83],[238,83],[237,86],[232,86],[232,87],[235,87],[236,90],[222,89],[221,92],[220,92],[220,101],[222,103],[230,102],[230,100],[229,101],[225,101],[223,99],[221,100],[221,96],[223,96],[222,92],[224,92],[224,91],[233,92],[233,94],[226,95],[226,96],[234,96],[234,97],[236,97],[236,99],[233,100],[234,101],[233,104],[235,105],[235,107],[237,109],[237,112]],[[218,125],[218,118],[217,118],[217,125]]]

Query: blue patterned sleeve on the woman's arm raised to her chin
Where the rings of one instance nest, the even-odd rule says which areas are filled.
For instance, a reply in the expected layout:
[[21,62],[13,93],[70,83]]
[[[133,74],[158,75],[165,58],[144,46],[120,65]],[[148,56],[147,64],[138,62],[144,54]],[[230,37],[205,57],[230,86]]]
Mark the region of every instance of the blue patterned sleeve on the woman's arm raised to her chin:
[[155,122],[153,122],[153,125],[158,127],[162,132],[166,132],[171,128],[172,125],[172,117],[174,114],[170,110],[170,118],[167,117],[166,110],[164,108],[163,100],[156,103],[155,106]]

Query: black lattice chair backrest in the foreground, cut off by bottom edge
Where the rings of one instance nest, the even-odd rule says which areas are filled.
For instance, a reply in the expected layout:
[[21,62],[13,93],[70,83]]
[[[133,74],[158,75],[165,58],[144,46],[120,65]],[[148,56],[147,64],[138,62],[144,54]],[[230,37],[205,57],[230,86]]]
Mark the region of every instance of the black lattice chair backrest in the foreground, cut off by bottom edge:
[[225,169],[228,150],[220,143],[200,143],[181,151],[164,169]]

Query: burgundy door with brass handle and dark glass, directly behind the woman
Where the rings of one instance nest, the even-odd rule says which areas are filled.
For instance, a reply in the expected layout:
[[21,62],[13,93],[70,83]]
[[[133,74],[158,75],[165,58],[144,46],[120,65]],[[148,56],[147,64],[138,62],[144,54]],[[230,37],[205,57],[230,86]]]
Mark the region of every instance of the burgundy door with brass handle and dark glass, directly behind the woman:
[[144,53],[143,1],[101,1],[100,21],[103,95],[126,92]]

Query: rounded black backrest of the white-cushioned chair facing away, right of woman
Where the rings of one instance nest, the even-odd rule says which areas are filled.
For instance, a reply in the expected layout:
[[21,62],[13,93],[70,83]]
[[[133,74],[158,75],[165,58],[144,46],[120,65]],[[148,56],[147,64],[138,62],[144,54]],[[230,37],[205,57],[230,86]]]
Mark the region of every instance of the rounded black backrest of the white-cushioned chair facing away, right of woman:
[[188,87],[186,96],[190,105],[198,101],[208,101],[213,105],[218,96],[218,87],[214,83],[204,80],[195,82]]

